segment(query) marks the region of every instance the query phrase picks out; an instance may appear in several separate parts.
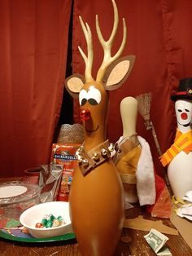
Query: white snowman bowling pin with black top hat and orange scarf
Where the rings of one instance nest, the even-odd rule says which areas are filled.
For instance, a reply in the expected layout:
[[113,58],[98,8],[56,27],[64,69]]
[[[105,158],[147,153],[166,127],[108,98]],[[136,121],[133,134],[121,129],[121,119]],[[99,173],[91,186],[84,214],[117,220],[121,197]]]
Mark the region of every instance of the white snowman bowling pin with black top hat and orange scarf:
[[163,166],[168,165],[168,180],[176,198],[182,198],[192,190],[192,78],[181,79],[175,102],[177,132],[174,143],[160,157]]

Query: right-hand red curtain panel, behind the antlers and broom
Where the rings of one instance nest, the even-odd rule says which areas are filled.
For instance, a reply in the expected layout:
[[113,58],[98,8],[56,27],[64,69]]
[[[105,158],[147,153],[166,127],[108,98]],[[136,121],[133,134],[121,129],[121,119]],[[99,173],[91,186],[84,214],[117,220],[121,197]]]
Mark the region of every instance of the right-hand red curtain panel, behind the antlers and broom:
[[[191,0],[116,0],[120,15],[119,31],[113,50],[116,52],[122,38],[122,17],[128,27],[128,40],[123,55],[136,55],[136,61],[128,80],[120,89],[111,91],[108,118],[108,139],[116,142],[122,135],[120,101],[127,96],[136,97],[152,93],[151,121],[153,121],[161,150],[171,145],[177,121],[170,95],[177,90],[183,77],[192,77],[192,2]],[[103,50],[95,31],[95,15],[98,14],[104,38],[111,33],[113,8],[110,0],[75,0],[73,14],[73,71],[84,74],[84,62],[77,46],[86,49],[78,15],[88,22],[94,37],[94,73],[103,60]],[[86,51],[86,50],[85,50]],[[75,121],[78,103],[75,102]],[[146,130],[143,118],[138,114],[137,134],[151,145],[156,169],[160,174],[159,155],[151,131]]]

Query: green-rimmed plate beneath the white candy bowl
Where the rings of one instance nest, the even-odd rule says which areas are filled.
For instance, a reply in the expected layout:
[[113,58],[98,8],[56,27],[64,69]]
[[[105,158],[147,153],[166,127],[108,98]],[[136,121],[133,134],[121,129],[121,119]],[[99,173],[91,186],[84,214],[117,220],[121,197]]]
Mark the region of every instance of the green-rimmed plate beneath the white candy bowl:
[[11,241],[20,241],[26,243],[47,243],[55,241],[68,241],[76,242],[76,236],[74,233],[68,233],[63,236],[54,236],[48,238],[35,238],[30,234],[22,232],[20,227],[11,228],[11,229],[0,229],[0,237],[11,240]]

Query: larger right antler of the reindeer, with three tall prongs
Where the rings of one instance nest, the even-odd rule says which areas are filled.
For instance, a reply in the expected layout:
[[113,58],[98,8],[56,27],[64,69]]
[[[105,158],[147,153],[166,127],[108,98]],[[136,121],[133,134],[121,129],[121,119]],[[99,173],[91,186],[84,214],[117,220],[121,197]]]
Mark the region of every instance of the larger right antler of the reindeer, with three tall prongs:
[[118,15],[118,11],[117,11],[117,7],[116,7],[116,2],[114,0],[111,0],[112,4],[113,4],[113,10],[114,10],[114,24],[113,24],[113,29],[111,32],[111,36],[108,39],[108,41],[105,41],[101,32],[101,29],[99,27],[98,24],[98,15],[96,15],[96,29],[97,29],[97,33],[98,33],[98,39],[99,42],[101,43],[101,45],[103,46],[103,51],[104,51],[104,57],[103,57],[103,63],[101,64],[101,67],[98,69],[98,74],[97,74],[97,78],[96,81],[98,82],[102,82],[103,76],[106,72],[107,67],[117,58],[119,58],[119,56],[121,55],[121,53],[124,50],[124,46],[126,43],[126,38],[127,38],[127,28],[126,28],[126,24],[125,24],[125,20],[123,18],[123,39],[120,45],[120,49],[116,52],[116,55],[111,56],[111,46],[113,44],[113,41],[116,37],[116,32],[117,32],[117,28],[118,28],[118,24],[119,24],[119,15]]

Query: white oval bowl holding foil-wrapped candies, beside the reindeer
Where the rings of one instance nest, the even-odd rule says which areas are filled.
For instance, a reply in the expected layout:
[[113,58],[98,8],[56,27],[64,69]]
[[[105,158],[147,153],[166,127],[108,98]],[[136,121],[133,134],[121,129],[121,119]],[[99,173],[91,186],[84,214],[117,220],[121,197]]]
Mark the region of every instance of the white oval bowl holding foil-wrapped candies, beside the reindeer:
[[[36,223],[41,223],[42,218],[47,214],[53,214],[56,218],[62,216],[65,224],[59,227],[35,227]],[[46,202],[28,208],[20,215],[20,223],[27,227],[32,236],[37,238],[62,236],[72,232],[68,202],[63,201]]]

